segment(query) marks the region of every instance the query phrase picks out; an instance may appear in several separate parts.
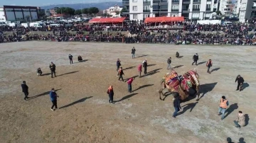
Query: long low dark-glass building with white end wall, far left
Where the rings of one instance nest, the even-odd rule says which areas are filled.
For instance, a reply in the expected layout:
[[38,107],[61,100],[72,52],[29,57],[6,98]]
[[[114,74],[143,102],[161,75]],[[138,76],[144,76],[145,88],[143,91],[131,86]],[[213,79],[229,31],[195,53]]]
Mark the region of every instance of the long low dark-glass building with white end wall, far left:
[[0,21],[36,21],[36,6],[4,6],[0,8]]

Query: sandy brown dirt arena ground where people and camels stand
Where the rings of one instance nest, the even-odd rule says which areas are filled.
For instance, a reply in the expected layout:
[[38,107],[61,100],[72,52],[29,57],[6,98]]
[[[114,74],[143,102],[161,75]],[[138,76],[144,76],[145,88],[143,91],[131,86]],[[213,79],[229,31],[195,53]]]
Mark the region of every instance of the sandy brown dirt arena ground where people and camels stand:
[[[131,49],[136,57],[132,59]],[[176,51],[183,56],[175,58]],[[192,57],[199,55],[199,65]],[[0,44],[0,142],[256,142],[256,47],[213,45],[126,45],[82,42],[12,42]],[[68,55],[74,57],[69,64]],[[85,62],[78,63],[81,55]],[[172,96],[159,100],[161,78],[169,72],[166,60],[178,74],[198,70],[201,99],[181,103],[176,119]],[[148,74],[132,83],[118,81],[116,61],[124,79],[137,76],[137,65],[148,60]],[[213,60],[212,74],[206,61]],[[50,77],[49,64],[57,77]],[[41,67],[43,76],[36,75]],[[235,77],[241,74],[245,89],[235,91]],[[21,82],[27,81],[28,101]],[[108,103],[107,88],[114,88],[115,104]],[[57,89],[58,110],[48,95]],[[221,96],[230,102],[224,120],[218,116]],[[238,129],[238,110],[247,115],[247,125]]]

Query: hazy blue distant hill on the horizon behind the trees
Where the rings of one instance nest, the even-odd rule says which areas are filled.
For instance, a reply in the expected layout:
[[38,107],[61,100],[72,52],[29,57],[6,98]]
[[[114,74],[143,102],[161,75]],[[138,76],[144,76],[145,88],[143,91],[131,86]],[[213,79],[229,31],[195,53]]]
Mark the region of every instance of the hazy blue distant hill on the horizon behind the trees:
[[56,5],[50,5],[50,6],[41,6],[42,9],[50,9],[54,7],[70,7],[74,9],[80,9],[80,8],[90,8],[90,7],[97,7],[100,10],[105,10],[109,8],[110,6],[114,6],[117,4],[118,6],[122,6],[122,2],[103,2],[103,3],[90,3],[90,4],[56,4]]

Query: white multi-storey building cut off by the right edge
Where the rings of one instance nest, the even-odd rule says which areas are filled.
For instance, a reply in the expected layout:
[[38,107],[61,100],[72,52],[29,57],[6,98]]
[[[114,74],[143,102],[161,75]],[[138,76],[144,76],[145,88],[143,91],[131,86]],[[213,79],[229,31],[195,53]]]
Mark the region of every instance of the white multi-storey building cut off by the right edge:
[[256,0],[238,1],[239,21],[245,22],[246,19],[256,18]]

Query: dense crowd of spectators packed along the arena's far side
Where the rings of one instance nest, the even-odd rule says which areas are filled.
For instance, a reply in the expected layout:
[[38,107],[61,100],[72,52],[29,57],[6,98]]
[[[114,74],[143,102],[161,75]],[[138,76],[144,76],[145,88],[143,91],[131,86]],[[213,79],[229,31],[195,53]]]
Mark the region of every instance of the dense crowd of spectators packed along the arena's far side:
[[[0,26],[0,42],[23,40],[83,41],[83,42],[148,42],[172,44],[228,44],[252,45],[255,42],[255,21],[232,23],[230,25],[204,25],[191,22],[144,23],[127,21],[124,23],[74,23],[73,25],[49,26],[41,28]],[[178,28],[159,28],[159,25],[179,26]],[[156,26],[154,30],[147,27]],[[181,28],[182,26],[182,28]],[[50,34],[28,34],[33,31],[50,31]],[[104,32],[104,31],[107,31]],[[116,34],[111,34],[113,31]],[[129,35],[121,31],[129,31]],[[5,35],[12,32],[12,35]],[[73,32],[73,33],[71,33]],[[74,34],[75,32],[75,34]],[[87,32],[85,34],[85,32]]]

